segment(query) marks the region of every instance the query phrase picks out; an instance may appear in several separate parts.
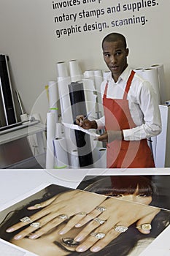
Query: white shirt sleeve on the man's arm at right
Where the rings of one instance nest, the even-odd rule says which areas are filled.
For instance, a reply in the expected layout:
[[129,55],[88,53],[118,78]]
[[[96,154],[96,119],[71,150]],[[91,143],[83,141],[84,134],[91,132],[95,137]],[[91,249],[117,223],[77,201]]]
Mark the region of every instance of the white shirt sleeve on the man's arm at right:
[[[134,91],[135,93],[135,91]],[[131,93],[131,98],[135,99],[143,114],[142,124],[138,123],[138,116],[134,116],[136,127],[123,129],[124,140],[142,140],[151,138],[161,133],[161,114],[158,105],[158,96],[152,89],[149,82],[142,82],[139,85],[136,96]],[[135,113],[135,111],[134,111]],[[138,113],[136,111],[136,113]],[[139,112],[140,114],[140,112]]]

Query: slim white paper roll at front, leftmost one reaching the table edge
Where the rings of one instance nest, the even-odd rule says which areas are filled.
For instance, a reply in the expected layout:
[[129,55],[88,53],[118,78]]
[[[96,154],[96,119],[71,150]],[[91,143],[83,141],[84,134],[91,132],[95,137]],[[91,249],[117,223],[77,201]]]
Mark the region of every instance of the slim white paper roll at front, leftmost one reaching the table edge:
[[47,152],[46,152],[46,168],[53,169],[54,167],[54,147],[53,140],[55,139],[55,115],[47,113]]

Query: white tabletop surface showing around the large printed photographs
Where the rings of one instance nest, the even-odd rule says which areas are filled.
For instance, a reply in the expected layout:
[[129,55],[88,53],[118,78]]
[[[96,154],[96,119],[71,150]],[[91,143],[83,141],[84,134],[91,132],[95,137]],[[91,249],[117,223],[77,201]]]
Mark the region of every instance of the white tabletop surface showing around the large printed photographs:
[[[97,175],[170,175],[170,168],[152,169],[63,169],[63,170],[0,170],[0,210],[18,201],[24,194],[42,184],[58,184],[65,187],[76,188],[85,176]],[[170,228],[161,233],[155,241],[142,252],[141,256],[168,256]],[[1,248],[0,248],[1,250]],[[59,256],[59,255],[58,255]]]

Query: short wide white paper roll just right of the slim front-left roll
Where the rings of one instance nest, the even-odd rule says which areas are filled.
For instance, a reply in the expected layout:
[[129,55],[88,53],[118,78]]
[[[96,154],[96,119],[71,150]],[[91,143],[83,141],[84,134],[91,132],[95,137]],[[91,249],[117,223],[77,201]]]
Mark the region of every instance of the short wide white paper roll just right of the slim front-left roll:
[[53,146],[55,151],[55,169],[69,168],[66,139],[63,137],[55,138]]

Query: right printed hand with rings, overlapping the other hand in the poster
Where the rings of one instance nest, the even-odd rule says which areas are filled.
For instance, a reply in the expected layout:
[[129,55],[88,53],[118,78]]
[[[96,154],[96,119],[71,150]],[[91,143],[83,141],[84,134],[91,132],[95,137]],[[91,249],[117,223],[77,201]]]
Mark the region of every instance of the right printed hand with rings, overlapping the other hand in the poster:
[[75,225],[85,225],[74,238],[81,243],[77,246],[77,252],[85,252],[88,249],[91,252],[100,251],[134,223],[139,232],[147,235],[150,233],[152,219],[161,211],[159,208],[116,198],[109,198],[99,206],[100,215],[98,209],[95,209]]

